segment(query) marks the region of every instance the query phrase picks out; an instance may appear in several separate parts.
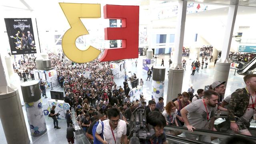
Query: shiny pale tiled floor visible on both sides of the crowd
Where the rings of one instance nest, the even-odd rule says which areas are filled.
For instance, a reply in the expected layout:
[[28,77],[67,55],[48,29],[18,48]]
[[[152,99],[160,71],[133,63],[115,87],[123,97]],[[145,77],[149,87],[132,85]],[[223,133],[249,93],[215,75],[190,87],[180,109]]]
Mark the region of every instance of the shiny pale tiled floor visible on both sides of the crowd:
[[[166,100],[166,95],[167,95],[167,88],[168,88],[168,76],[167,76],[167,71],[169,70],[168,68],[168,57],[169,56],[159,56],[157,58],[157,66],[161,65],[161,60],[162,58],[164,58],[164,62],[165,62],[165,68],[166,68],[166,77],[165,77],[165,87],[164,87],[164,99]],[[146,71],[142,69],[142,60],[145,59],[145,57],[139,57],[138,58],[138,66],[135,66],[135,60],[126,60],[127,61],[127,72],[132,72],[132,73],[136,73],[138,78],[142,78],[144,80],[144,86],[143,86],[143,94],[144,94],[144,98],[146,98],[146,101],[151,99],[151,84],[152,84],[152,79],[150,81],[146,81]],[[183,59],[183,58],[182,58]],[[190,62],[188,60],[188,58],[185,57],[185,59],[187,60],[187,70],[184,72],[184,78],[183,78],[183,85],[182,85],[182,91],[187,91],[188,88],[190,86],[193,86],[195,91],[199,88],[203,88],[206,85],[210,85],[213,81],[213,75],[214,75],[214,67],[213,67],[213,62],[209,63],[208,68],[207,69],[203,69],[197,73],[195,73],[194,76],[191,76],[190,74]],[[150,66],[151,67],[151,66]],[[227,83],[227,88],[226,88],[226,94],[225,96],[228,96],[229,94],[231,94],[232,92],[234,92],[234,90],[236,90],[237,88],[242,88],[245,86],[243,80],[242,80],[243,76],[240,76],[238,74],[236,74],[236,76],[234,76],[234,70],[230,69],[230,74],[229,74],[229,78],[228,78],[228,83]],[[119,78],[119,79],[114,79],[116,84],[118,86],[123,86],[123,77]],[[20,96],[22,94],[21,90],[20,90],[20,84],[21,82],[19,81],[19,77],[17,74],[14,74],[14,76],[12,76],[11,80],[10,80],[14,85],[16,85],[19,88],[19,93]],[[60,87],[54,87],[54,90],[60,90]],[[42,98],[43,104],[46,104],[48,100],[50,100],[50,89],[46,90],[46,94],[48,96],[47,99]],[[24,105],[23,102],[23,98],[21,97],[21,103]],[[165,102],[166,103],[166,102]],[[24,112],[24,117],[26,120],[26,126],[27,129],[29,130],[28,127],[28,119],[26,117],[26,110],[24,107],[23,108],[23,112]],[[66,121],[65,120],[59,120],[59,126],[61,127],[61,129],[56,130],[53,128],[53,120],[51,118],[48,118],[48,116],[45,116],[46,118],[46,126],[47,126],[47,132],[39,137],[31,137],[30,136],[30,131],[28,131],[29,134],[29,138],[30,138],[30,142],[32,144],[64,144],[67,143],[66,140]],[[0,124],[0,140],[1,140],[1,144],[7,144],[5,136],[4,136],[4,131],[2,128],[2,124]]]

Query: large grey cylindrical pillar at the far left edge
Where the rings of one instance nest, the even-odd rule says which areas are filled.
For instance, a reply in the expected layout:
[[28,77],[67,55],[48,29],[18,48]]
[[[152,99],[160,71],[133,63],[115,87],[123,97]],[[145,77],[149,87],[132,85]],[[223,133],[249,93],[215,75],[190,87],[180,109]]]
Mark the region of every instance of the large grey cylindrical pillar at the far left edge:
[[1,56],[0,74],[0,118],[6,141],[8,144],[30,144],[19,92],[14,86],[8,86]]

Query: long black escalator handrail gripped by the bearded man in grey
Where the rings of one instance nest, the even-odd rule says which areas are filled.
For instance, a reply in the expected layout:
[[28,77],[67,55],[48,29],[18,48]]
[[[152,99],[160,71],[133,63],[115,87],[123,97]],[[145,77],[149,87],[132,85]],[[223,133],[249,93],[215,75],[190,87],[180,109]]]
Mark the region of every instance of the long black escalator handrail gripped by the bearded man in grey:
[[254,140],[256,142],[256,138],[253,136],[246,136],[242,134],[231,134],[231,133],[224,133],[224,132],[217,132],[217,131],[210,131],[210,130],[203,130],[203,129],[194,129],[193,132],[188,131],[186,127],[178,127],[178,126],[166,126],[164,129],[167,130],[177,130],[182,132],[189,132],[194,134],[200,134],[200,135],[210,135],[217,138],[228,138],[230,136],[241,136],[245,138],[249,138],[251,140]]

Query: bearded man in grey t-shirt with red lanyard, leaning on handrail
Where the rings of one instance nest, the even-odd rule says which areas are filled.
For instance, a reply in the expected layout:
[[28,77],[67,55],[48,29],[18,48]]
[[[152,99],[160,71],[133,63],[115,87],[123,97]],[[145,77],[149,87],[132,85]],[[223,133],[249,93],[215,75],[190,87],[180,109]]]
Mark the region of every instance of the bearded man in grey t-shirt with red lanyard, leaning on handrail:
[[[181,112],[182,119],[184,120],[185,126],[190,132],[193,129],[214,129],[214,114],[218,107],[218,93],[213,90],[207,90],[204,92],[204,98],[196,100],[183,108]],[[187,115],[188,114],[188,115]],[[199,136],[199,141],[211,142],[210,136],[185,133],[186,138],[196,140]]]

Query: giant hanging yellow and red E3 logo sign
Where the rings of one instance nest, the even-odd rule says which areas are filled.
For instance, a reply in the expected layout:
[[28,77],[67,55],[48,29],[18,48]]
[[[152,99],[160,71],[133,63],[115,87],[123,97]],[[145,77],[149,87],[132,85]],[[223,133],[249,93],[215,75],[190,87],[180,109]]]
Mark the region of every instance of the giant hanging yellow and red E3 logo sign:
[[[62,50],[72,61],[90,62],[97,58],[100,50],[87,46],[87,50],[79,50],[75,41],[78,36],[89,34],[80,18],[100,18],[100,4],[60,3],[70,29],[62,38]],[[100,62],[138,58],[139,6],[105,5],[104,18],[121,19],[122,28],[105,28],[105,40],[122,40],[121,48],[105,48]]]

